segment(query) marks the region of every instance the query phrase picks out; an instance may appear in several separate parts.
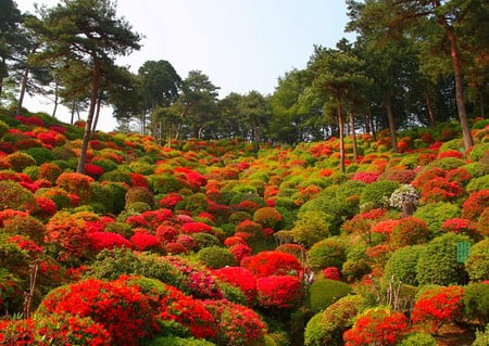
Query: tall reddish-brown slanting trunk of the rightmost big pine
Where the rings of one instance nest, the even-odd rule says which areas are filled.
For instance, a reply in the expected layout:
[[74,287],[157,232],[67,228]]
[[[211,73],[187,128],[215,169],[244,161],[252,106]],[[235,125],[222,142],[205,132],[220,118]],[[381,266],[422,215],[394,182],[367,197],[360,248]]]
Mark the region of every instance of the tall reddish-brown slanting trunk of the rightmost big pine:
[[459,44],[456,41],[455,31],[453,27],[447,23],[443,15],[437,15],[438,23],[444,28],[450,42],[450,54],[452,55],[453,73],[455,77],[455,99],[456,108],[459,111],[460,125],[462,127],[462,136],[464,139],[464,148],[468,150],[474,145],[474,139],[472,138],[471,127],[468,126],[467,110],[465,108],[464,87],[462,77],[462,63],[460,59]]

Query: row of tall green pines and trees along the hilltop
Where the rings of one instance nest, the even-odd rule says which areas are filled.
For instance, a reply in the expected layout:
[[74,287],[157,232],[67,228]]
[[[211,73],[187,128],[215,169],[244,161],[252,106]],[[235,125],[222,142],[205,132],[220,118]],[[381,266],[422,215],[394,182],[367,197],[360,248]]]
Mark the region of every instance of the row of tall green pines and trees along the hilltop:
[[25,92],[49,94],[53,115],[59,103],[72,114],[86,110],[84,145],[100,107],[112,105],[120,130],[134,130],[136,120],[138,130],[167,142],[242,137],[297,143],[342,139],[346,128],[374,136],[389,129],[396,151],[397,129],[459,118],[469,148],[467,118],[485,116],[489,98],[488,2],[347,0],[347,5],[354,42],[314,47],[306,67],[278,78],[272,95],[250,91],[218,99],[220,88],[199,71],[183,79],[164,60],[147,61],[137,74],[117,66],[115,59],[139,49],[141,36],[116,16],[113,1],[63,0],[33,16],[5,0],[0,88],[21,86],[18,112]]

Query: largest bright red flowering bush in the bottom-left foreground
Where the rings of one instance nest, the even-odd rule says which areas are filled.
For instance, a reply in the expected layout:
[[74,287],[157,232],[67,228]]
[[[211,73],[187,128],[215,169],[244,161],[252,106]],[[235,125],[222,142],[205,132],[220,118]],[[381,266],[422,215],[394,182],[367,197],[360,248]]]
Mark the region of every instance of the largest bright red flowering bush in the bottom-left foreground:
[[103,325],[114,345],[136,346],[159,329],[148,297],[139,287],[121,281],[88,279],[55,289],[45,297],[38,313],[90,317]]

